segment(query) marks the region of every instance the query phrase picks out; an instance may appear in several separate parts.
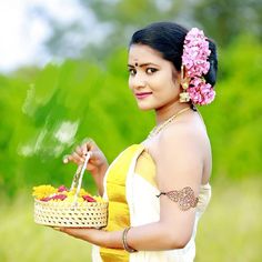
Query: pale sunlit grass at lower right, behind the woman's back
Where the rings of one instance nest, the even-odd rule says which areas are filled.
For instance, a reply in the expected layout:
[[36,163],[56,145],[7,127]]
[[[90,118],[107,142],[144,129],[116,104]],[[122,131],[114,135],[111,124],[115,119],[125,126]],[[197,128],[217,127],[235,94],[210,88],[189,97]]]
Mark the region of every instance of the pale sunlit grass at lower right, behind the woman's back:
[[216,182],[199,224],[196,262],[260,262],[262,180]]

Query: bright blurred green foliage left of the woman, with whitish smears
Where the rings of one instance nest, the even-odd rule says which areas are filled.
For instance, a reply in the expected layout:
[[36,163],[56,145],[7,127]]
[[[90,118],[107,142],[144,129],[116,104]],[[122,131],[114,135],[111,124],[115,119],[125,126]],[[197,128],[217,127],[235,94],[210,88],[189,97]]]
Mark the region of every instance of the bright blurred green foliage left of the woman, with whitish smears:
[[127,50],[119,50],[103,67],[68,60],[31,77],[21,77],[23,72],[0,78],[0,159],[6,163],[0,165],[1,192],[13,195],[28,184],[69,184],[75,167],[63,165],[62,155],[83,138],[93,138],[109,161],[142,140],[153,120],[137,109],[125,64]]

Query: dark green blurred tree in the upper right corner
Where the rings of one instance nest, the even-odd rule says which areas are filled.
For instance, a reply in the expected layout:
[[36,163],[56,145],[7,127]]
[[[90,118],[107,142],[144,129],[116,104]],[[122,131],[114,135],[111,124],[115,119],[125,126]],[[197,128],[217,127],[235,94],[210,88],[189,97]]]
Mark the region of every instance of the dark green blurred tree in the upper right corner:
[[221,46],[249,33],[262,40],[262,2],[260,0],[200,0],[193,10],[195,21]]

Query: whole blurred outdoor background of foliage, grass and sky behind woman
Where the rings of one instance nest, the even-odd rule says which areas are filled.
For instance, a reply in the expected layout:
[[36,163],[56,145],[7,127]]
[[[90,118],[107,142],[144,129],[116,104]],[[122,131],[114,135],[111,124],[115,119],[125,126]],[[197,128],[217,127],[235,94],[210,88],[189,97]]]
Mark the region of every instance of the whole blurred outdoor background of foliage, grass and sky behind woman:
[[[10,0],[6,4],[13,2],[24,2],[24,24],[37,21],[37,26],[29,31],[22,23],[21,42],[1,37],[6,43],[6,51],[0,46],[1,62],[11,61],[8,54],[13,59],[33,51],[37,36],[41,46],[29,60],[7,68],[1,63],[0,69],[0,261],[91,261],[89,243],[34,224],[31,189],[70,185],[75,167],[62,164],[62,157],[87,137],[112,161],[149,133],[153,113],[140,112],[129,91],[127,47],[134,30],[160,20],[199,27],[218,43],[216,99],[200,108],[213,150],[213,191],[200,221],[195,261],[261,261],[261,1]],[[52,4],[57,8],[50,9]],[[3,11],[7,6],[1,9],[9,20],[1,22],[0,34],[4,30],[14,36],[16,4],[9,12]],[[88,174],[84,187],[95,192]]]

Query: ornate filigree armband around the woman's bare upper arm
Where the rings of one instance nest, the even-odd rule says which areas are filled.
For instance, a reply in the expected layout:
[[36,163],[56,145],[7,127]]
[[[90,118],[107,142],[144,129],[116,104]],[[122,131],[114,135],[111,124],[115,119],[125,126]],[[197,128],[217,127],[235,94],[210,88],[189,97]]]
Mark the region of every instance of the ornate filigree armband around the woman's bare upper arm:
[[199,202],[199,198],[194,196],[194,191],[190,187],[183,188],[182,190],[161,192],[157,196],[160,198],[161,194],[167,195],[170,200],[177,202],[179,208],[183,211],[195,208]]

